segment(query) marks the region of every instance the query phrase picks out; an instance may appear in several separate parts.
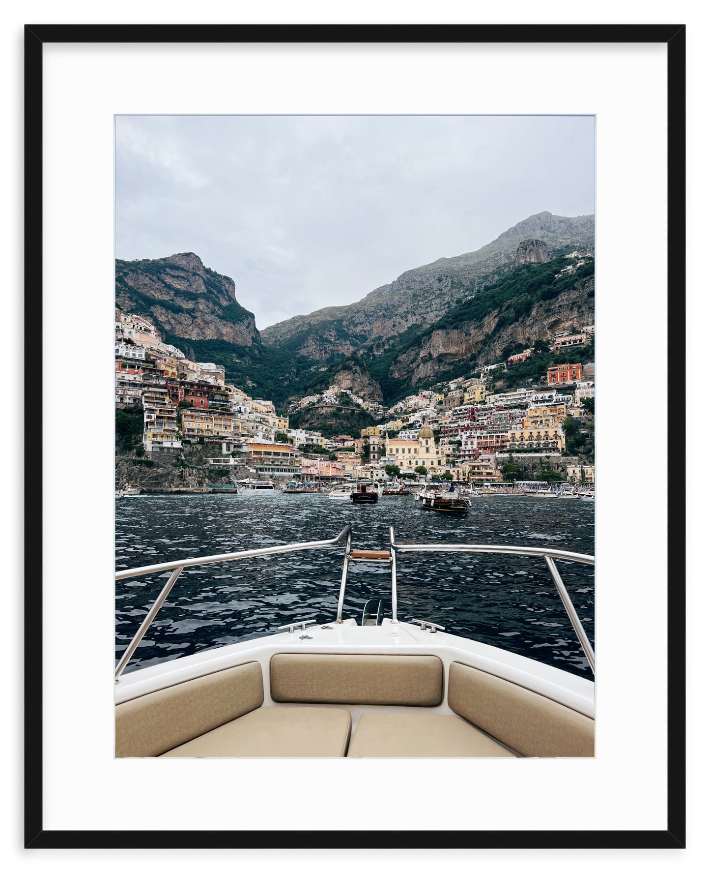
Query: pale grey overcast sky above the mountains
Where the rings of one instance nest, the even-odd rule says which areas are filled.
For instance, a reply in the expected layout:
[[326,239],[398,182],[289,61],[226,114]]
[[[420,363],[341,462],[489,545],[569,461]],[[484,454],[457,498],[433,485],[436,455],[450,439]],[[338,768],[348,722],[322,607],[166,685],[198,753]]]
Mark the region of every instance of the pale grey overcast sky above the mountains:
[[594,212],[593,118],[116,119],[116,257],[195,251],[259,328],[543,210]]

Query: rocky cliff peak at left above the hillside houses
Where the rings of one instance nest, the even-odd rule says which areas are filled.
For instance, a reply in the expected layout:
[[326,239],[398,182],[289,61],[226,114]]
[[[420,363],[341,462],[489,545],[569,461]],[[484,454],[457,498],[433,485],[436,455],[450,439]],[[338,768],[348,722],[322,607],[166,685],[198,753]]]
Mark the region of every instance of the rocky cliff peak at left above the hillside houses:
[[235,284],[202,264],[193,252],[169,258],[116,261],[116,303],[145,315],[161,336],[259,342],[254,315],[236,302]]

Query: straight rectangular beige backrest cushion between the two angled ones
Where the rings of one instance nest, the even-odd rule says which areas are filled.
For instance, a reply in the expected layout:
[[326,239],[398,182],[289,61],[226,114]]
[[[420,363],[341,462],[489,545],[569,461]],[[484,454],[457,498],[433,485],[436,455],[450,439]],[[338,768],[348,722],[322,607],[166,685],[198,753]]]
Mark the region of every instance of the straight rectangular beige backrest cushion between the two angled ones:
[[434,655],[274,655],[279,703],[438,706],[443,665]]

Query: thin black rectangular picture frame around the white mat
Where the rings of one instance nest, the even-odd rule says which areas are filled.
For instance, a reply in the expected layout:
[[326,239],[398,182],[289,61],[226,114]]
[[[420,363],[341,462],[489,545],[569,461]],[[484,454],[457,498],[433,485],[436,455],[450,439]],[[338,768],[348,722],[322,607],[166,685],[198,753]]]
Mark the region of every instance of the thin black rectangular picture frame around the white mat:
[[[667,340],[686,337],[686,31],[682,24],[28,24],[24,31],[24,289],[25,393],[41,393],[42,361],[35,354],[41,324],[42,263],[42,60],[45,43],[666,43],[667,209],[669,262]],[[672,219],[672,220],[671,220]],[[668,363],[673,402],[685,403],[683,368]],[[672,379],[671,379],[672,376]],[[25,411],[25,481],[41,491],[37,419],[41,402]],[[31,419],[31,421],[30,421]],[[685,423],[673,423],[668,440],[677,468],[684,460]],[[33,485],[35,487],[33,487]],[[96,831],[45,830],[42,819],[42,541],[37,496],[26,503],[24,845],[31,849],[679,849],[686,840],[685,777],[685,513],[682,478],[668,489],[668,685],[666,830],[577,831]]]

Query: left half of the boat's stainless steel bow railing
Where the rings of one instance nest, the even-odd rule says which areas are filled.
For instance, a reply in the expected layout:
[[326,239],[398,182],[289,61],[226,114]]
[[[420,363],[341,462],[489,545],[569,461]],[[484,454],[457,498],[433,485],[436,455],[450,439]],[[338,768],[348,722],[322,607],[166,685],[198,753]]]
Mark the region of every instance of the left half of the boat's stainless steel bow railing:
[[[128,643],[128,648],[121,656],[119,663],[116,665],[115,679],[118,682],[119,676],[126,669],[126,664],[133,657],[133,652],[138,648],[138,644],[145,636],[147,629],[153,623],[153,620],[156,615],[158,615],[158,610],[163,605],[167,595],[170,593],[170,589],[173,588],[175,582],[178,579],[178,576],[182,573],[185,567],[196,567],[201,564],[217,564],[223,563],[228,560],[243,560],[244,558],[261,558],[265,554],[283,554],[284,552],[302,552],[304,549],[316,549],[316,548],[327,548],[328,546],[337,546],[340,540],[347,536],[347,542],[345,545],[345,554],[347,555],[350,550],[351,541],[352,541],[352,533],[351,526],[346,525],[343,530],[338,533],[337,537],[333,537],[331,540],[313,540],[312,542],[307,543],[290,543],[286,546],[268,546],[267,548],[254,548],[249,549],[245,552],[230,552],[227,554],[212,554],[208,555],[204,558],[184,558],[182,560],[169,560],[164,564],[151,564],[147,567],[133,567],[130,570],[119,570],[116,574],[116,579],[130,579],[133,576],[147,576],[155,573],[166,573],[168,570],[172,570],[173,572],[170,574],[170,578],[167,580],[165,585],[163,586],[162,591],[158,595],[155,600],[153,606],[148,609],[146,617],[143,619],[143,622],[140,625],[140,628],[136,631],[135,636],[130,643]],[[347,567],[347,560],[345,560],[345,568]],[[344,569],[344,574],[346,573],[346,569]],[[342,610],[342,605],[338,607]]]

